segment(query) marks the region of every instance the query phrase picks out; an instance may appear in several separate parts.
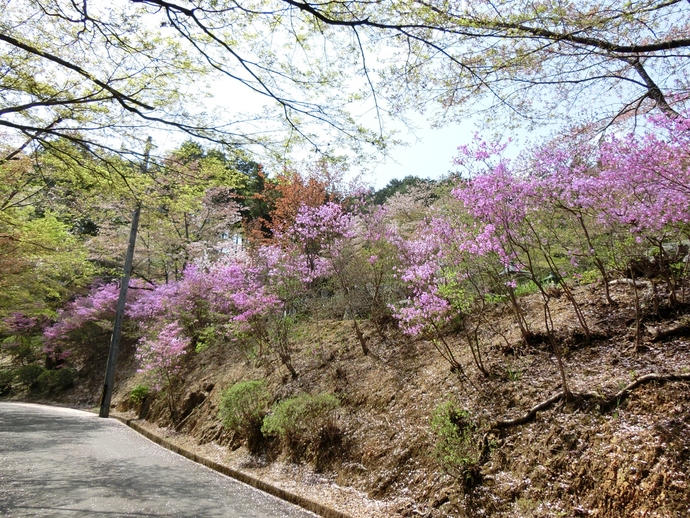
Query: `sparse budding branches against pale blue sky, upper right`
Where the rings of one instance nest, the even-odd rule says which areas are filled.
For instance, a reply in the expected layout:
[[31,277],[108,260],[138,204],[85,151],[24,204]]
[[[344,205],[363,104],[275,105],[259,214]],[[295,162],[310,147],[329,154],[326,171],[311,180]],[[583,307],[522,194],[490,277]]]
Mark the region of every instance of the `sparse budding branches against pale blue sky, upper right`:
[[285,2],[392,43],[382,82],[401,109],[607,125],[690,95],[687,0]]

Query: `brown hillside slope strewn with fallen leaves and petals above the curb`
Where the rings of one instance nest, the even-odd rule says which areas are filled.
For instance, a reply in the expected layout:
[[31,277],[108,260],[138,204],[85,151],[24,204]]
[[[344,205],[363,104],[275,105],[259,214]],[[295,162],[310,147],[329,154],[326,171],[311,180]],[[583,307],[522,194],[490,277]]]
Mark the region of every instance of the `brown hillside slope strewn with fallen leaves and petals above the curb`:
[[[690,336],[684,326],[690,311],[680,305],[657,312],[643,297],[645,333],[636,347],[630,290],[613,286],[612,305],[592,287],[577,290],[587,301],[590,344],[578,336],[567,301],[552,308],[571,400],[554,397],[562,387],[550,347],[538,339],[522,343],[512,313],[496,305],[479,329],[488,376],[474,368],[466,337],[452,330],[446,339],[466,376],[451,371],[428,342],[394,330],[384,339],[366,322],[368,356],[351,323],[303,323],[293,344],[297,378],[277,359],[209,348],[185,366],[177,431],[228,452],[246,448],[221,423],[221,393],[239,381],[265,379],[273,401],[338,397],[339,433],[301,462],[340,486],[391,502],[393,515],[688,516]],[[533,322],[541,317],[538,301],[537,295],[520,299]],[[539,336],[538,326],[532,331]],[[171,425],[166,398],[130,402],[139,378],[129,372],[119,381],[118,408],[136,406],[148,420]],[[75,389],[70,397],[84,393]],[[432,423],[449,408],[458,412],[447,414],[447,422],[463,431],[450,439]],[[439,453],[444,439],[455,445],[450,457]],[[257,462],[295,461],[276,438],[260,446]]]

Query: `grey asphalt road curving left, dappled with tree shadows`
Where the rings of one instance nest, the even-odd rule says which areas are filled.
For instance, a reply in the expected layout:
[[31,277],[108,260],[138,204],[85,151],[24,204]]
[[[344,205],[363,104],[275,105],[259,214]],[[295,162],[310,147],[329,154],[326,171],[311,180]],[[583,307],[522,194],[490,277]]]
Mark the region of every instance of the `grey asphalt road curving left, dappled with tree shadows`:
[[0,516],[313,518],[114,419],[0,403]]

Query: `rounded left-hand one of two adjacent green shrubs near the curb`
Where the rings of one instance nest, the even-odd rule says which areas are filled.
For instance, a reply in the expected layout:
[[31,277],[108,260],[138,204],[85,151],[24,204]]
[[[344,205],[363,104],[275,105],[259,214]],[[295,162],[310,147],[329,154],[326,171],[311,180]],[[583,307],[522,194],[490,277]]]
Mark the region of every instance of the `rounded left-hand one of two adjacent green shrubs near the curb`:
[[263,380],[240,381],[221,396],[223,426],[245,439],[251,451],[256,451],[262,442],[261,423],[270,401],[271,395]]

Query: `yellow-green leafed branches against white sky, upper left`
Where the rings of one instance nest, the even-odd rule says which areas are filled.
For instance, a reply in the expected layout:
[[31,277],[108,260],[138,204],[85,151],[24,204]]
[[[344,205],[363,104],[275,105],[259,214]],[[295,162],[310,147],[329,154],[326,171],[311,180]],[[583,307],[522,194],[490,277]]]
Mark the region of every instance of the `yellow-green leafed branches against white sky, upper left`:
[[[311,17],[279,7],[0,0],[0,127],[14,146],[0,159],[55,138],[94,154],[120,151],[123,142],[142,150],[131,141],[157,129],[233,146],[382,146],[379,130],[348,114],[361,98],[347,82],[348,58]],[[243,90],[228,95],[204,85],[219,77]],[[225,97],[227,115],[197,102],[210,93]],[[237,115],[257,94],[280,109]]]

